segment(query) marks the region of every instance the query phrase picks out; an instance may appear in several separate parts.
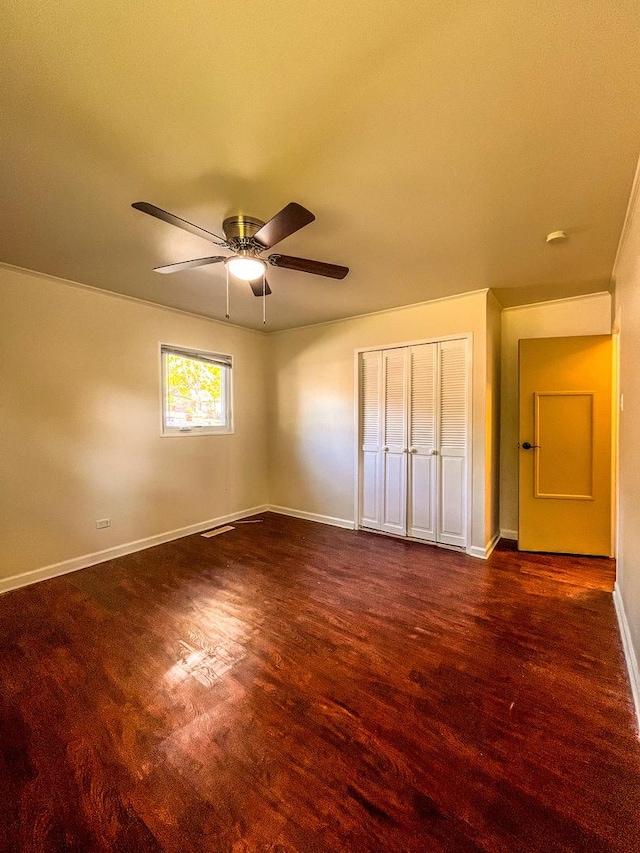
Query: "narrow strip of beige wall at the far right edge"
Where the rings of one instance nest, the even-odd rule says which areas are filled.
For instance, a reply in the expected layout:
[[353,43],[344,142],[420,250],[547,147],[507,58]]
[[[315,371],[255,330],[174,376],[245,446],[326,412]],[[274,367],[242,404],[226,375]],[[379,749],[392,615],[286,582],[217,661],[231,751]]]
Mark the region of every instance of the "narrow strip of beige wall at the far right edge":
[[[627,216],[615,268],[615,315],[620,327],[618,474],[618,592],[640,661],[640,193]],[[637,677],[637,676],[636,676]],[[640,689],[640,684],[636,687]],[[640,714],[640,694],[636,700]]]

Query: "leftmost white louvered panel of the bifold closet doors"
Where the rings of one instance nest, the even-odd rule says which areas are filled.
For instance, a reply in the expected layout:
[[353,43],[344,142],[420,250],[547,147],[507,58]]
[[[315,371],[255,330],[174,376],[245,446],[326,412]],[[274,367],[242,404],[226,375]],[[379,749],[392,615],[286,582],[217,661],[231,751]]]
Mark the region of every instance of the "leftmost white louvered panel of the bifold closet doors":
[[382,353],[360,359],[360,524],[380,530],[382,516]]

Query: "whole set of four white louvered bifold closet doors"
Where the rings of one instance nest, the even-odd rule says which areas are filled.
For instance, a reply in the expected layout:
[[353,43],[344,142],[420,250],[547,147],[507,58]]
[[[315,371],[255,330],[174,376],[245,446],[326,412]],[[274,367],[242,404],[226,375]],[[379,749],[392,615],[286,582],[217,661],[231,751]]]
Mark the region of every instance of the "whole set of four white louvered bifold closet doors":
[[466,547],[466,338],[360,353],[359,525]]

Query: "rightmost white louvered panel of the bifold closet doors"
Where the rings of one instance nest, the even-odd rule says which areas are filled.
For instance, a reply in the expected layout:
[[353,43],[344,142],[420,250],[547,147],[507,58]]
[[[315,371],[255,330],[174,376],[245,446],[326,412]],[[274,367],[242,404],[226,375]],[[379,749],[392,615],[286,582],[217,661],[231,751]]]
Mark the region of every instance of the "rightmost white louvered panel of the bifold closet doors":
[[467,344],[442,341],[439,347],[439,523],[437,540],[467,544]]

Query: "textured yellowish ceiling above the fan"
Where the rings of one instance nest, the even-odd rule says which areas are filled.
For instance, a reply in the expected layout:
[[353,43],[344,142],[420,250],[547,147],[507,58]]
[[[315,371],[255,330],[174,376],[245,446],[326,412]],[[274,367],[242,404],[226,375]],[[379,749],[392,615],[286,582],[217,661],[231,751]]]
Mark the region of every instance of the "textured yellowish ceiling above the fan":
[[[640,140],[637,0],[5,0],[0,261],[210,317],[220,233],[289,201],[276,330],[495,288],[609,286]],[[566,244],[549,246],[564,229]],[[43,280],[43,287],[46,281]],[[232,322],[262,328],[249,287]]]

